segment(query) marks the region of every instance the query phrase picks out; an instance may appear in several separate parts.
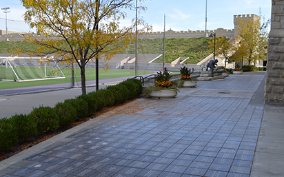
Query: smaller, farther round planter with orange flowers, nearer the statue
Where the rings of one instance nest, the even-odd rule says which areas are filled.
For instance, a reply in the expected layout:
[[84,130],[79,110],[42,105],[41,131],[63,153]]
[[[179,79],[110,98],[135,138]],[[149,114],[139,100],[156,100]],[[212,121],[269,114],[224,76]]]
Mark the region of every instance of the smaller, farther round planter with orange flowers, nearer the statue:
[[190,74],[190,69],[185,65],[179,70],[181,72],[181,79],[179,79],[179,86],[183,87],[195,87],[197,85],[197,79],[193,79]]

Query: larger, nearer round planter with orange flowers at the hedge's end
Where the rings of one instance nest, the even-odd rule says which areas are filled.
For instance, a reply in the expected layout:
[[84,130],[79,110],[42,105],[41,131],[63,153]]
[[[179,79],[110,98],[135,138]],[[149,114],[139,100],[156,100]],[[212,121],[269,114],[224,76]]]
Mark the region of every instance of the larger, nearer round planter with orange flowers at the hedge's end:
[[168,72],[167,68],[163,72],[157,72],[155,76],[155,85],[150,87],[145,87],[143,90],[143,96],[151,96],[156,98],[173,98],[179,92],[179,87],[176,87],[170,81],[172,75]]

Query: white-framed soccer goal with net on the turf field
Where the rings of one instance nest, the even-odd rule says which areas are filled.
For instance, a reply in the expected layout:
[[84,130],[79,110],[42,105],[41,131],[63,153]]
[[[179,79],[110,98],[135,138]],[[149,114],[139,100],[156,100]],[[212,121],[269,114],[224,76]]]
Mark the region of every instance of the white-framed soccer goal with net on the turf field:
[[0,81],[39,81],[64,79],[59,65],[52,57],[1,57]]

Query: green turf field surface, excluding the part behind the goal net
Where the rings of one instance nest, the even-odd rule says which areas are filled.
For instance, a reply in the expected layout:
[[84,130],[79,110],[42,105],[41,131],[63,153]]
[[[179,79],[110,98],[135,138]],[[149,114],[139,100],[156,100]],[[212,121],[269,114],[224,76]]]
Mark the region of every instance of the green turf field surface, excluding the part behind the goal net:
[[[52,85],[58,83],[71,83],[71,70],[63,70],[65,75],[65,79],[50,79],[43,81],[26,81],[26,82],[12,82],[12,81],[0,81],[0,90],[3,89],[12,89],[12,88],[20,88],[20,87],[32,87],[39,85]],[[85,69],[85,80],[93,81],[96,80],[95,76],[96,70],[94,68],[86,68]],[[137,71],[137,75],[143,74],[155,74],[155,72],[150,71]],[[81,74],[80,69],[75,68],[74,70],[75,82],[81,82]],[[112,78],[120,78],[125,76],[135,76],[135,70],[108,70],[105,72],[103,69],[99,69],[99,79],[112,79]]]

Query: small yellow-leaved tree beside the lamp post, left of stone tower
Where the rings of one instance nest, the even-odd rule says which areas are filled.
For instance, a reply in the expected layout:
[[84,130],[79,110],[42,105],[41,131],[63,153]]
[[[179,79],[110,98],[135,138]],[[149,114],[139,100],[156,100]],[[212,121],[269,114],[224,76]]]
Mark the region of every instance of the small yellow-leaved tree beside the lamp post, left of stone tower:
[[[212,39],[212,41],[209,41],[208,43],[209,43],[208,48],[214,50],[214,39]],[[215,51],[216,56],[221,55],[225,58],[225,68],[226,68],[227,59],[229,59],[230,56],[232,56],[234,51],[234,43],[230,42],[230,39],[227,39],[225,37],[216,37],[215,48],[216,48]]]

